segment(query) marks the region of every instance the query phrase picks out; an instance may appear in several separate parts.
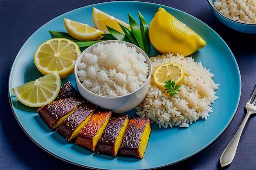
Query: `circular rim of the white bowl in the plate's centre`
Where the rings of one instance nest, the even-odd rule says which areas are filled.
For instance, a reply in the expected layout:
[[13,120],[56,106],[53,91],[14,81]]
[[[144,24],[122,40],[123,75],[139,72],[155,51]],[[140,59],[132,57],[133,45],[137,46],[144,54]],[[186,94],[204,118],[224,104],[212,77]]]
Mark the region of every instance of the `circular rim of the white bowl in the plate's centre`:
[[[78,75],[77,75],[77,65],[79,64],[79,60],[82,58],[82,55],[84,55],[86,49],[77,57],[76,59],[76,62],[75,62],[75,66],[74,66],[74,75],[75,75],[75,81],[76,83],[79,83],[79,86],[81,86],[81,88],[83,88],[86,92],[90,93],[91,95],[95,96],[95,97],[101,97],[101,98],[106,98],[106,99],[118,99],[118,98],[124,98],[124,97],[128,97],[130,95],[133,95],[135,93],[137,93],[138,91],[140,91],[144,86],[146,86],[146,84],[151,81],[151,75],[152,75],[152,66],[151,66],[151,62],[150,62],[150,57],[148,57],[148,55],[141,49],[139,48],[139,46],[135,45],[135,44],[132,44],[130,42],[126,42],[126,41],[121,41],[121,40],[104,40],[104,41],[101,41],[101,42],[97,42],[91,46],[89,46],[88,48],[92,48],[92,46],[97,46],[98,44],[109,44],[110,42],[120,42],[120,43],[126,43],[130,46],[134,46],[136,49],[137,49],[137,53],[138,53],[138,49],[141,51],[141,53],[146,57],[146,60],[148,59],[148,76],[147,76],[147,79],[146,79],[146,82],[143,83],[142,86],[140,86],[136,91],[132,92],[132,93],[129,93],[129,94],[126,94],[126,95],[121,95],[121,96],[103,96],[103,95],[98,95],[96,93],[93,93],[91,91],[89,91],[87,88],[85,88],[85,86],[83,86],[81,84],[81,81],[79,80],[78,78]],[[87,48],[87,49],[88,49]],[[78,88],[78,87],[77,87]]]

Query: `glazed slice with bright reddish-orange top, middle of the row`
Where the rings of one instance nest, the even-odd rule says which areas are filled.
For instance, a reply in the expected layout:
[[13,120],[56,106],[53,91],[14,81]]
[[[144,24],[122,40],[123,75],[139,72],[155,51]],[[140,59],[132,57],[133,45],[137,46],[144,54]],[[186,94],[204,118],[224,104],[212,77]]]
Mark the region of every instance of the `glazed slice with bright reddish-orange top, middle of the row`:
[[111,115],[112,112],[110,110],[96,109],[92,117],[80,130],[75,143],[94,152]]

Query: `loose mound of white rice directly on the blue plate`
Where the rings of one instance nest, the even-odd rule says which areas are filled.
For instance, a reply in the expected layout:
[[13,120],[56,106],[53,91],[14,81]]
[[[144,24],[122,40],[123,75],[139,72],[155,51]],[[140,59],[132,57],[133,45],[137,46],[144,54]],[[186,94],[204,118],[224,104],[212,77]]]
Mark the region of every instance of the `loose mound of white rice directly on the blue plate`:
[[179,54],[158,55],[150,57],[150,61],[152,75],[162,64],[180,64],[185,72],[184,83],[178,95],[170,96],[157,87],[151,77],[151,86],[143,102],[135,108],[136,114],[150,118],[159,128],[188,127],[198,119],[207,119],[212,112],[211,104],[218,99],[215,90],[219,84],[213,82],[213,74],[201,62]]

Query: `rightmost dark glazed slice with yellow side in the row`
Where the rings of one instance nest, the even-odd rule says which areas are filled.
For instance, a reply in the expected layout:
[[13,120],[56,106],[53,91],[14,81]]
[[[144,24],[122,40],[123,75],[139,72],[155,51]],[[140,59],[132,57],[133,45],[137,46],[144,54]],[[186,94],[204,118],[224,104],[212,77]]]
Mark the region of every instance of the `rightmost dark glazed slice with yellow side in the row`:
[[150,119],[131,117],[120,146],[120,156],[142,159],[150,133]]

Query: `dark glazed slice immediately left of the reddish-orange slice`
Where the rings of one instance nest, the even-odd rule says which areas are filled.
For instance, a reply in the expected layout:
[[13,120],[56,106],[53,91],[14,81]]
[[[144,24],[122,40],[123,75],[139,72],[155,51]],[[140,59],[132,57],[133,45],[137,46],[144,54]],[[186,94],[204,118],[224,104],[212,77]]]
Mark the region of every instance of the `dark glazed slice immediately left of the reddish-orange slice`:
[[56,131],[67,141],[71,141],[88,122],[95,108],[96,106],[90,102],[84,102],[61,123]]

